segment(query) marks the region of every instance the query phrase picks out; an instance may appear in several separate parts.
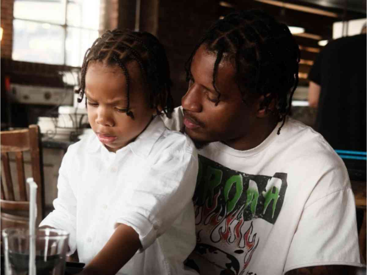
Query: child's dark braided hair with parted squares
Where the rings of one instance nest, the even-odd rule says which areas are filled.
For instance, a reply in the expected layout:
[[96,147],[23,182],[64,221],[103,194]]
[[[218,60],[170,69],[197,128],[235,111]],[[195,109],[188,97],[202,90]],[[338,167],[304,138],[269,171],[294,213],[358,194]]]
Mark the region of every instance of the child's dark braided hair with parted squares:
[[173,110],[170,67],[166,51],[155,36],[147,32],[115,29],[108,30],[97,38],[84,55],[80,88],[76,91],[79,94],[78,102],[83,99],[88,64],[92,60],[106,62],[109,66],[118,65],[122,69],[127,86],[126,114],[131,118],[134,118],[134,114],[129,110],[130,74],[127,65],[136,62],[149,91],[149,106],[156,109],[157,114],[160,113],[159,107],[161,107],[164,113],[170,117]]

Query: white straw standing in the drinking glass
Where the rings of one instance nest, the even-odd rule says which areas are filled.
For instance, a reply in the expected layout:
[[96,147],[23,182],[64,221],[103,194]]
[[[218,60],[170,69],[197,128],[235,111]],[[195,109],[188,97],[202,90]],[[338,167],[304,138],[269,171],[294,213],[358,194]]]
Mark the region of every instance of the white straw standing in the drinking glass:
[[29,275],[36,275],[36,218],[37,218],[37,184],[33,177],[27,179],[29,185]]

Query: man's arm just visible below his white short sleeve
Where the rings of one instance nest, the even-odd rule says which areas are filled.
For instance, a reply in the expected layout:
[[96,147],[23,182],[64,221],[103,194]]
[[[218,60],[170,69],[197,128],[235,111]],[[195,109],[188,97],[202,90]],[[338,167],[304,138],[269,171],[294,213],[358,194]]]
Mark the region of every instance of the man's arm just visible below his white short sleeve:
[[348,265],[318,265],[290,270],[285,275],[354,275],[356,268]]

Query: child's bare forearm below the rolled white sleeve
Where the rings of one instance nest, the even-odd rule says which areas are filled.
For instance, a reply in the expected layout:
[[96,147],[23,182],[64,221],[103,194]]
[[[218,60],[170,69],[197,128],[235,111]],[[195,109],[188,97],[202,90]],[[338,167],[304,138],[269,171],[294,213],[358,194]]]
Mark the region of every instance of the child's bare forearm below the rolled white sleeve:
[[132,227],[120,224],[109,241],[80,275],[113,275],[141,248],[139,235]]

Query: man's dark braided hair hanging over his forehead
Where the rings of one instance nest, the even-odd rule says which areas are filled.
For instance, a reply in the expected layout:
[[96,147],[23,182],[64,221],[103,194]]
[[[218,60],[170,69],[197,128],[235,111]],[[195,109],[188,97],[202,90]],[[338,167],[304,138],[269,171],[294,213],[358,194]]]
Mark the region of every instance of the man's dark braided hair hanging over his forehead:
[[236,68],[235,81],[243,101],[249,95],[263,95],[262,108],[269,110],[270,102],[276,100],[279,121],[284,125],[291,110],[292,96],[298,85],[299,48],[288,27],[259,10],[240,11],[216,21],[196,45],[185,64],[189,80],[190,67],[197,49],[206,45],[208,52],[216,54],[213,70],[213,87],[216,86],[218,65],[232,62]]

